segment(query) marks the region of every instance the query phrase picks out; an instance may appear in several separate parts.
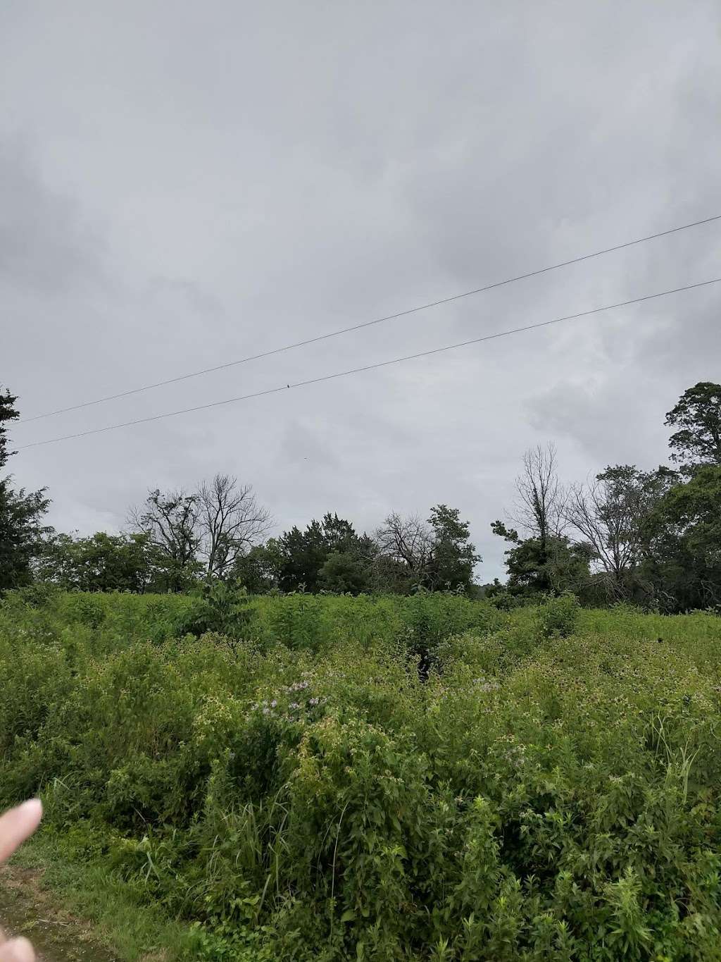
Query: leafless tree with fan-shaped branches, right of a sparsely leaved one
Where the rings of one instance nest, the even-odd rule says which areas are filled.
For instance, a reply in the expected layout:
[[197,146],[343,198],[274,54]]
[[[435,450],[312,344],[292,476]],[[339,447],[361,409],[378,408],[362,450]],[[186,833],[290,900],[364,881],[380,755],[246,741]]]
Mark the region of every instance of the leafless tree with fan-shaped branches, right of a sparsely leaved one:
[[216,474],[197,494],[198,555],[208,577],[222,578],[258,544],[272,525],[253,488],[230,474]]

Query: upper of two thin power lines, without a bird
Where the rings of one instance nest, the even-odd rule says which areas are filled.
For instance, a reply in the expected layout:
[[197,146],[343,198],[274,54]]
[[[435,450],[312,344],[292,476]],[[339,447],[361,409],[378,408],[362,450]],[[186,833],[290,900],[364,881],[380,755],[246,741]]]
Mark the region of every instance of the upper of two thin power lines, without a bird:
[[704,220],[694,220],[690,224],[681,224],[679,227],[671,227],[667,231],[660,231],[659,234],[649,234],[643,238],[636,238],[635,241],[625,241],[613,247],[605,247],[603,250],[594,251],[592,254],[583,254],[581,257],[574,257],[570,261],[561,261],[559,264],[552,264],[547,267],[540,267],[537,270],[530,270],[525,274],[517,274],[515,277],[508,277],[504,281],[495,281],[486,284],[483,288],[475,288],[473,291],[463,291],[460,294],[452,294],[450,297],[443,297],[440,300],[430,301],[428,304],[420,304],[418,307],[411,307],[407,311],[399,311],[398,314],[388,314],[384,317],[376,317],[373,320],[365,320],[360,324],[353,324],[351,327],[343,327],[338,331],[331,331],[329,334],[319,334],[314,338],[307,338],[305,341],[296,341],[284,344],[281,347],[274,347],[271,350],[262,351],[261,354],[251,354],[248,357],[240,358],[237,361],[228,361],[225,364],[215,365],[214,367],[204,367],[202,370],[190,371],[187,374],[180,374],[177,377],[169,377],[164,381],[156,381],[154,384],[145,384],[140,388],[132,388],[130,391],[121,391],[116,394],[107,394],[105,397],[96,397],[90,401],[81,401],[80,404],[72,404],[66,408],[58,408],[57,411],[48,411],[45,414],[34,415],[32,418],[21,418],[18,424],[26,424],[29,421],[39,420],[40,418],[54,418],[56,415],[67,414],[69,411],[79,411],[81,408],[92,407],[95,404],[105,404],[107,401],[115,401],[121,397],[130,397],[132,394],[139,394],[144,391],[153,391],[156,388],[163,388],[168,384],[177,384],[179,381],[187,381],[192,377],[200,377],[203,374],[211,374],[216,370],[225,370],[227,367],[247,364],[250,361],[260,361],[261,358],[272,357],[274,354],[282,354],[284,351],[294,350],[296,347],[306,347],[320,341],[328,341],[331,338],[338,338],[342,334],[351,334],[353,331],[360,331],[366,327],[373,327],[375,324],[383,324],[386,320],[397,320],[399,317],[406,317],[410,314],[417,314],[419,311],[427,311],[432,307],[440,307],[441,304],[450,304],[452,301],[460,300],[462,297],[470,297],[472,294],[480,294],[484,291],[492,291],[494,288],[502,288],[507,284],[514,284],[516,281],[524,281],[530,277],[537,277],[539,274],[547,274],[551,270],[559,270],[560,267],[568,267],[572,264],[581,264],[594,257],[601,257],[602,254],[610,254],[616,250],[623,250],[625,247],[633,247],[634,244],[645,243],[645,241],[656,241],[658,238],[667,237],[669,234],[678,234],[679,231],[686,231],[691,227],[700,227],[702,224],[709,224],[711,221],[721,220],[721,214],[706,217]]

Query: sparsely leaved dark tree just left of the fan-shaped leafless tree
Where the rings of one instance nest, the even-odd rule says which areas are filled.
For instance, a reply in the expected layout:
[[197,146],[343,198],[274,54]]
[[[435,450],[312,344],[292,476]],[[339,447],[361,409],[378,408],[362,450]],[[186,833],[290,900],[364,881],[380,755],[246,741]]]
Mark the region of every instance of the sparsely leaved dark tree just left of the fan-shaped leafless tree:
[[130,514],[131,527],[147,535],[169,574],[169,585],[180,590],[193,569],[198,549],[198,501],[185,491],[151,491],[142,507]]

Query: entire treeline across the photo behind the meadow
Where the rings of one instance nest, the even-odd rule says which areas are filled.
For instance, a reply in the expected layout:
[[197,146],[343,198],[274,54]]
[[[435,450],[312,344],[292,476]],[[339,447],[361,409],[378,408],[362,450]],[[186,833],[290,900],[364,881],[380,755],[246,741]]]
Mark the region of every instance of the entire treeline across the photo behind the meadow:
[[[0,468],[16,398],[0,393]],[[0,591],[32,581],[66,590],[184,592],[217,581],[251,594],[490,595],[513,605],[571,592],[588,604],[631,601],[660,611],[721,606],[721,385],[689,388],[666,415],[673,467],[615,465],[585,484],[559,478],[553,444],[523,458],[508,517],[508,579],[480,586],[481,561],[456,508],[427,519],[396,512],[372,533],[335,513],[269,538],[253,489],[216,474],[196,490],[150,492],[126,532],[73,537],[43,524],[44,491],[0,480]]]

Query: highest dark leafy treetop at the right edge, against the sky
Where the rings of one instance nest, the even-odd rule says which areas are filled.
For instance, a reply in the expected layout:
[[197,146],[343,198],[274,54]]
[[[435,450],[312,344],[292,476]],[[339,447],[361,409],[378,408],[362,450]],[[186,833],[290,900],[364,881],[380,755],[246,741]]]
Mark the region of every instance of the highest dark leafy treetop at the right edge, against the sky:
[[669,439],[671,460],[684,474],[703,465],[721,465],[721,384],[699,381],[685,391],[666,415],[678,428]]

